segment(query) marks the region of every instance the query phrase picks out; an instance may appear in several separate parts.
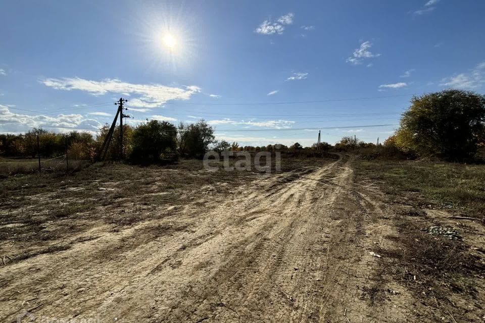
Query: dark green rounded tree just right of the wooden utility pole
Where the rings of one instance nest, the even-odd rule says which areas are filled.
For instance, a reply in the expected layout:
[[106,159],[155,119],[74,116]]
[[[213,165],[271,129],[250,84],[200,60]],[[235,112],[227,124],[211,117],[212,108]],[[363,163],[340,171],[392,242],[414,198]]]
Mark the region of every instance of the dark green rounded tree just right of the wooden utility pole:
[[163,152],[174,152],[177,129],[167,121],[151,120],[138,125],[131,136],[133,159],[159,160]]

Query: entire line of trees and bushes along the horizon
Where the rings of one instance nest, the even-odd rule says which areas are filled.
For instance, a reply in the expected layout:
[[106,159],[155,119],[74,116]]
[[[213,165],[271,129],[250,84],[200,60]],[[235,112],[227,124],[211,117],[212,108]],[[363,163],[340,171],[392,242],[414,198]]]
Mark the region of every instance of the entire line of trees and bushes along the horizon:
[[[123,125],[123,143],[119,127],[115,128],[106,158],[119,158],[120,147],[134,161],[156,162],[166,158],[202,158],[209,149],[222,151],[354,151],[374,157],[438,156],[464,160],[476,156],[485,148],[485,96],[470,91],[444,90],[414,96],[401,117],[400,127],[383,144],[366,143],[354,136],[343,137],[335,145],[321,142],[303,147],[268,144],[239,145],[215,140],[214,129],[206,121],[174,125],[167,121],[147,120],[137,126]],[[94,161],[109,132],[109,125],[95,137],[88,132],[55,133],[32,129],[24,134],[0,135],[0,154],[4,156],[35,157],[37,136],[43,157],[59,156],[66,151],[76,159]]]

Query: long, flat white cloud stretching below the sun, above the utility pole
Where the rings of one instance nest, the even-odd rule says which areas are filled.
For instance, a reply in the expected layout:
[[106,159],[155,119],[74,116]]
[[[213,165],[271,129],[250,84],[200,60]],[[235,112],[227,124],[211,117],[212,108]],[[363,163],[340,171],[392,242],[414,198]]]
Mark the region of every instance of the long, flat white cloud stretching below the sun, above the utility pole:
[[133,84],[122,82],[118,79],[91,81],[77,77],[48,78],[40,80],[40,82],[58,90],[81,90],[93,95],[104,95],[107,93],[139,95],[131,98],[128,104],[141,107],[158,107],[169,100],[188,100],[192,94],[201,91],[201,88],[195,85],[170,87],[161,84]]

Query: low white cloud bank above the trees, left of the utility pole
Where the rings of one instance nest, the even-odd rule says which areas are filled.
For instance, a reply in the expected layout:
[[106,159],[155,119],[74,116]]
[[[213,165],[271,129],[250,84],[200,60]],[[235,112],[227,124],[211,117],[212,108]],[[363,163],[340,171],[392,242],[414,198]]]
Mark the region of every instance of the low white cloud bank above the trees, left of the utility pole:
[[54,117],[41,114],[30,116],[13,113],[9,106],[0,104],[0,128],[2,128],[2,131],[25,132],[32,128],[45,128],[60,132],[76,129],[97,131],[101,126],[102,124],[97,120],[87,119],[78,114]]

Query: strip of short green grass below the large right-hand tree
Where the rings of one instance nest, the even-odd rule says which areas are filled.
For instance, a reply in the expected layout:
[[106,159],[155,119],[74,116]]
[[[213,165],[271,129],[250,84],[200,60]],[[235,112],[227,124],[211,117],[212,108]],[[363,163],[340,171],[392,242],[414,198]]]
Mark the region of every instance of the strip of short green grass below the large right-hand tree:
[[485,165],[360,160],[356,166],[362,174],[380,182],[387,194],[407,193],[422,204],[484,221]]

